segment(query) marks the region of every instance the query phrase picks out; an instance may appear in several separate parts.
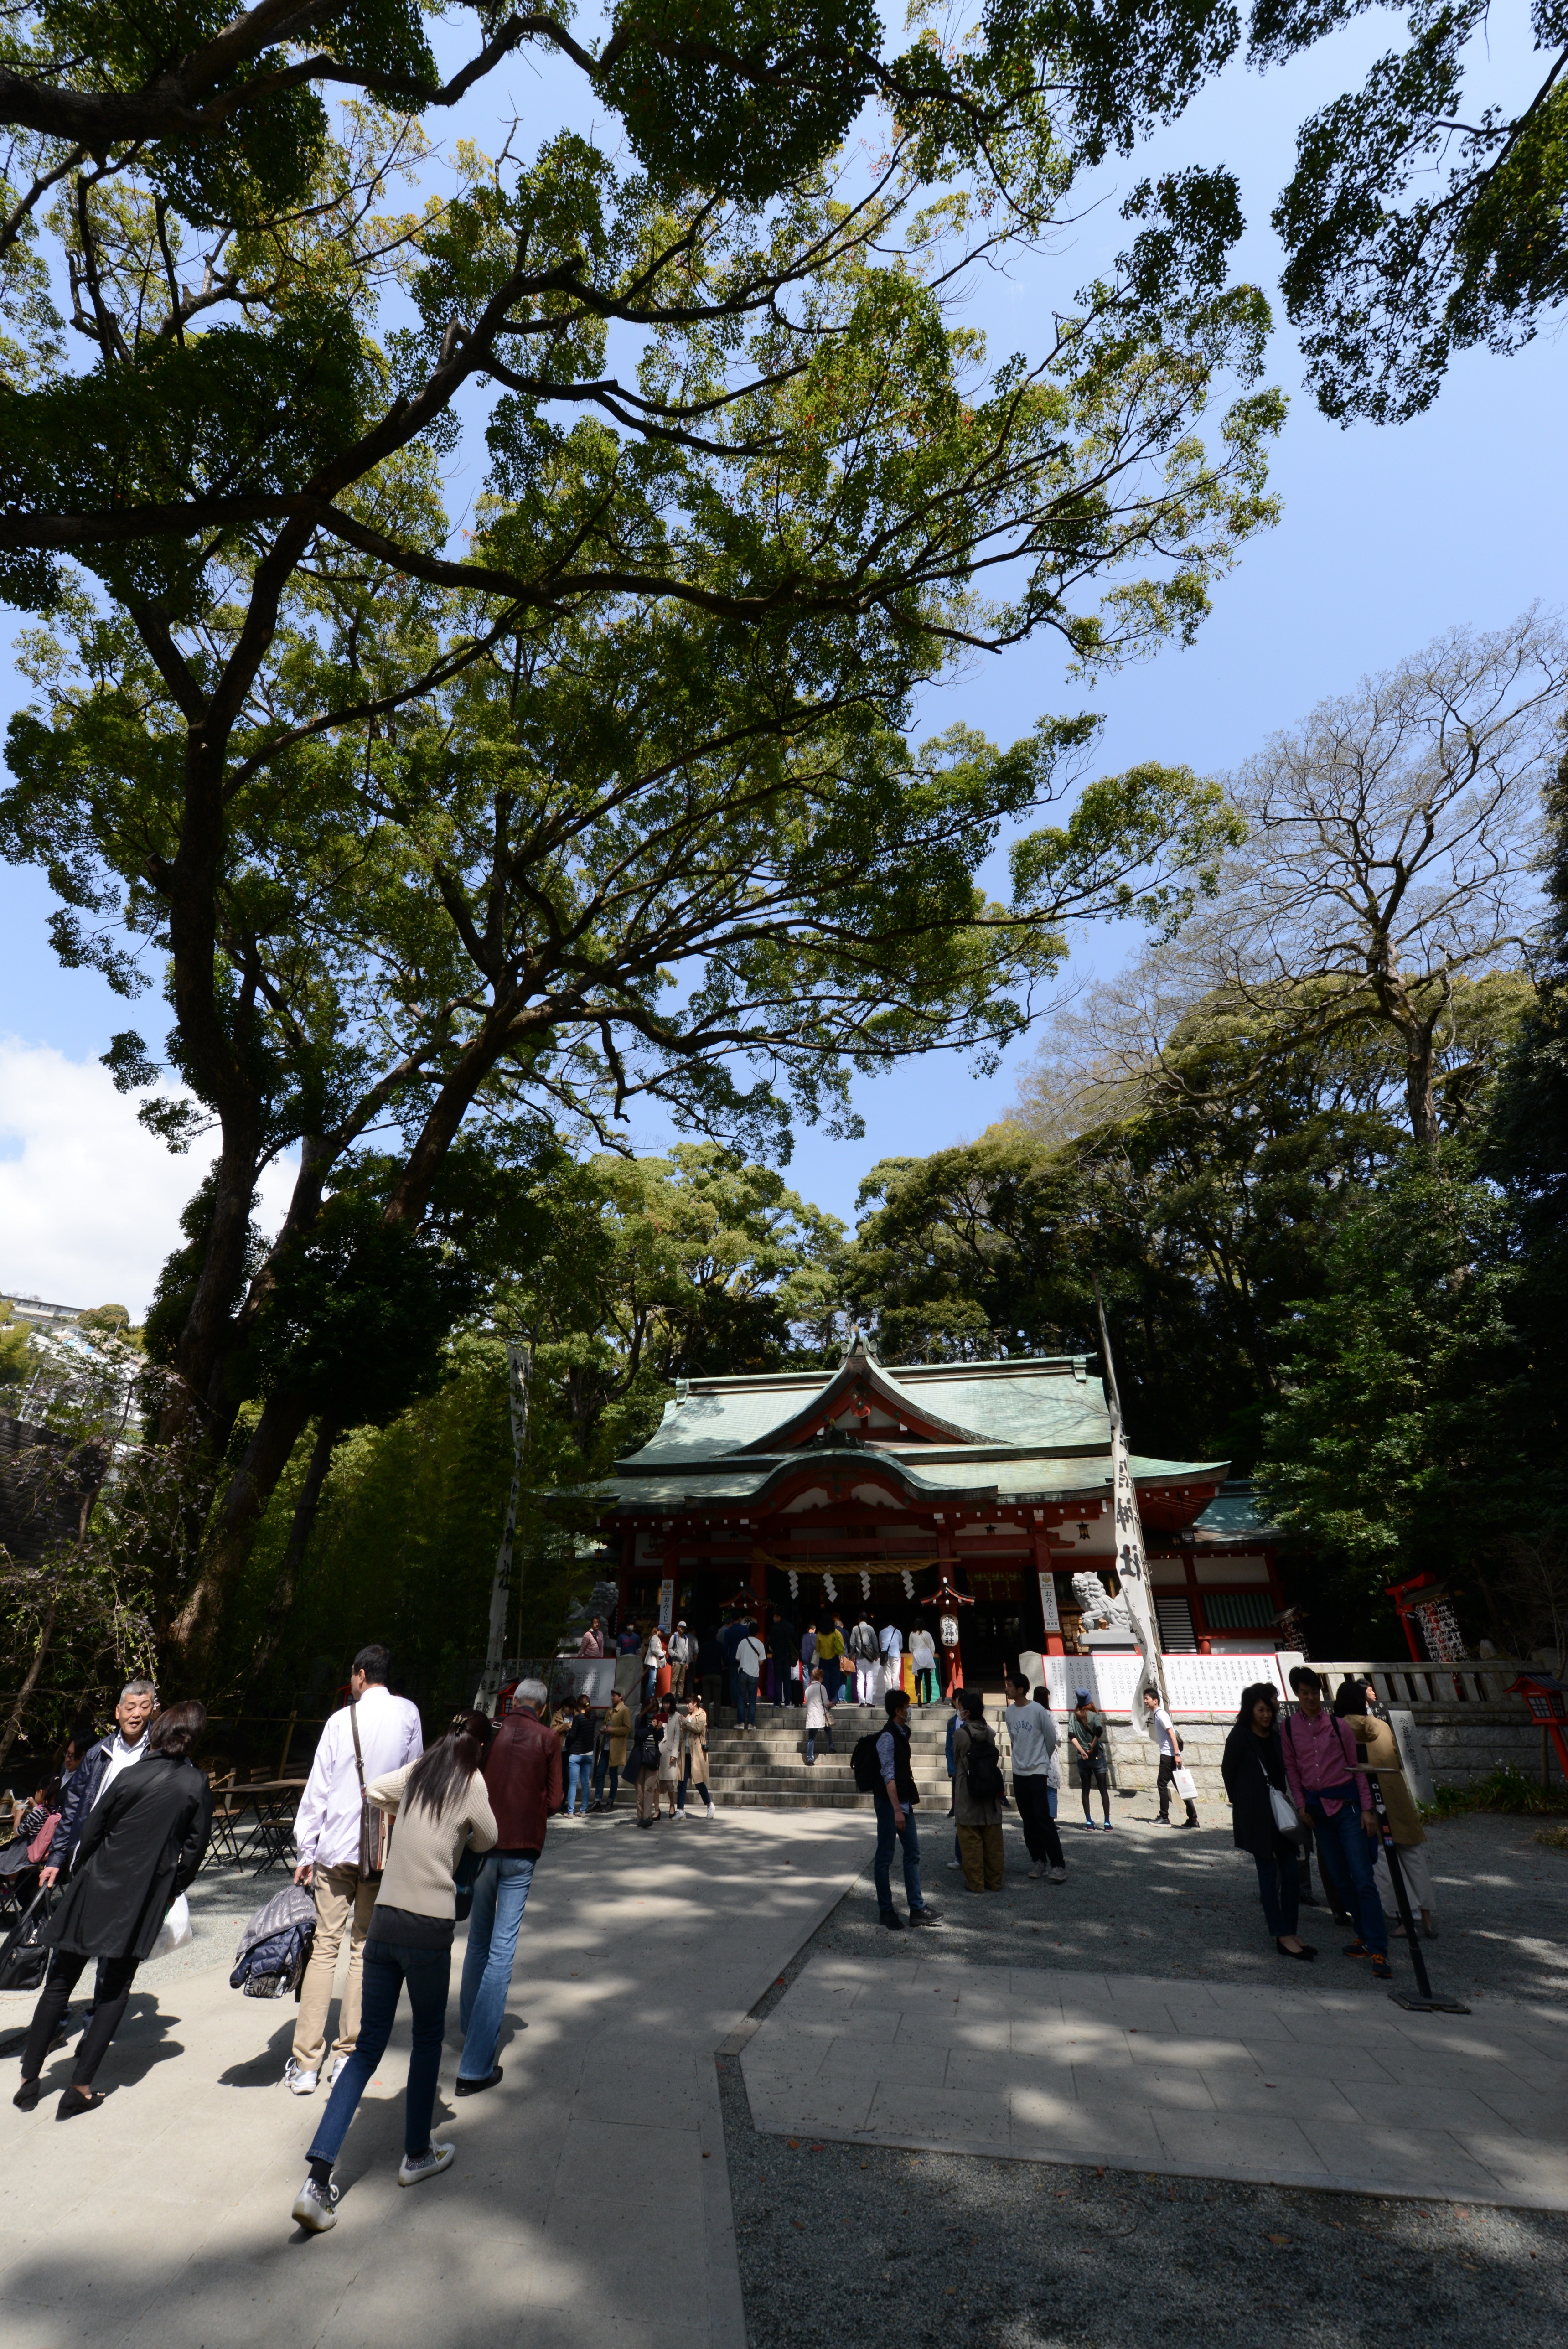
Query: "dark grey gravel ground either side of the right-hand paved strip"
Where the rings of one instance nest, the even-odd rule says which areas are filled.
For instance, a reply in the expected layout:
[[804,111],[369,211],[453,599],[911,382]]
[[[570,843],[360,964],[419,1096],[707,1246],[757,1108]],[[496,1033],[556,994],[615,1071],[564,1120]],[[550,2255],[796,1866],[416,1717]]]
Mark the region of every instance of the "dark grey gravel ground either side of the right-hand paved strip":
[[[1138,1816],[1145,1813],[1145,1816]],[[922,1825],[927,1825],[922,1820]],[[1002,1898],[972,1900],[946,1823],[930,1818],[922,1872],[944,1926],[927,1964],[1070,1964],[1094,1973],[1272,1980],[1282,1971],[1256,1877],[1230,1830],[1162,1830],[1117,1806],[1115,1835],[1068,1823],[1068,1884],[1023,1877],[1007,1828]],[[1434,1978],[1476,2006],[1568,1987],[1568,1853],[1523,1820],[1465,1818],[1430,1837],[1441,1900]],[[934,1863],[934,1865],[932,1865]],[[897,1877],[894,1877],[897,1882]],[[1305,1912],[1319,1968],[1343,1933]],[[871,1867],[756,2008],[765,2015],[819,1950],[904,1959],[876,1919]],[[1441,1961],[1441,1964],[1439,1964]],[[1404,1961],[1397,1959],[1399,1971]],[[1507,2326],[1568,2337],[1568,2217],[1380,2201],[1199,2178],[911,2154],[758,2138],[739,2060],[718,2060],[751,2349],[1256,2349],[1286,2330],[1305,2349],[1397,2337],[1474,2349]]]

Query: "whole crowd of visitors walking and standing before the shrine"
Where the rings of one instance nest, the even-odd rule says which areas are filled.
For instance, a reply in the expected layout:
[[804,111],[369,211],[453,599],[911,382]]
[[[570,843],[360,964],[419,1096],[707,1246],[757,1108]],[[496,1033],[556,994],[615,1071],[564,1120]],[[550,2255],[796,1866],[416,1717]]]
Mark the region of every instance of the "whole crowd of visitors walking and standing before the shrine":
[[[594,1618],[580,1654],[589,1663],[603,1661],[608,1644],[601,1618]],[[878,1914],[887,1931],[939,1924],[941,1912],[920,1882],[920,1785],[911,1741],[911,1708],[930,1701],[934,1684],[930,1633],[915,1628],[906,1649],[897,1626],[878,1630],[861,1614],[847,1633],[836,1616],[805,1633],[775,1621],[763,1640],[758,1626],[739,1616],[711,1640],[692,1637],[678,1623],[671,1635],[648,1633],[622,1654],[634,1658],[629,1670],[636,1684],[615,1691],[608,1705],[594,1705],[582,1694],[549,1722],[545,1682],[523,1680],[498,1722],[462,1712],[430,1745],[418,1708],[390,1689],[387,1649],[369,1644],[354,1656],[347,1703],[322,1729],[296,1818],[298,1893],[291,1898],[303,1905],[307,1896],[315,1921],[282,2081],[300,2098],[329,2088],[307,2175],[293,2201],[293,2220],[303,2229],[319,2234],[338,2222],[333,2170],[385,2058],[404,1992],[411,2055],[399,2185],[420,2185],[451,2166],[455,2147],[434,2140],[432,2119],[458,1921],[467,1917],[455,2095],[472,2098],[502,2081],[507,1994],[552,1818],[577,1823],[615,1809],[624,1776],[641,1830],[653,1830],[660,1818],[685,1818],[690,1790],[714,1820],[709,1722],[725,1684],[737,1719],[746,1724],[756,1719],[763,1672],[782,1668],[782,1687],[798,1689],[805,1759],[815,1764],[819,1748],[833,1752],[836,1705],[866,1703],[880,1682],[883,1724],[859,1738],[852,1757],[854,1783],[873,1797],[876,1811]],[[915,1680],[927,1682],[925,1696],[904,1684],[906,1658]],[[1235,1844],[1256,1863],[1263,1919],[1282,1957],[1298,1964],[1317,1957],[1298,1933],[1303,1893],[1310,1898],[1310,1856],[1317,1851],[1329,1903],[1354,1926],[1347,1954],[1366,1959],[1368,1973],[1387,1980],[1390,1931],[1404,1931],[1390,1853],[1397,1853],[1422,1929],[1437,1931],[1432,1875],[1420,1851],[1425,1832],[1399,1745],[1366,1680],[1345,1680],[1329,1705],[1319,1675],[1298,1668],[1291,1696],[1289,1715],[1272,1682],[1258,1682],[1242,1696],[1223,1755]],[[948,1705],[951,1865],[962,1872],[965,1896],[984,1900],[1005,1889],[1002,1818],[1009,1799],[1023,1830],[1028,1875],[1066,1884],[1056,1823],[1063,1757],[1077,1773],[1084,1830],[1110,1828],[1110,1734],[1091,1691],[1075,1691],[1061,1731],[1047,1689],[1030,1689],[1023,1672],[1009,1670],[998,1722],[1005,1748],[976,1689],[953,1684]],[[1171,1795],[1178,1795],[1183,1825],[1192,1828],[1197,1804],[1181,1736],[1155,1691],[1143,1698],[1143,1729],[1160,1755],[1160,1823],[1171,1825]],[[103,2102],[94,2079],[127,2013],[136,1968],[160,1945],[178,1896],[207,1853],[214,1802],[192,1759],[204,1727],[200,1703],[160,1710],[148,1680],[127,1682],[115,1727],[92,1745],[68,1745],[59,1778],[40,1790],[21,1820],[19,1839],[26,1839],[40,1893],[52,1905],[40,1936],[47,1973],[14,2093],[23,2112],[40,2102],[45,2062],[63,2034],[70,1994],[89,1961],[96,1961],[94,1999],[56,2109],[70,2119]],[[904,1882],[901,1912],[894,1853]],[[326,2025],[345,1938],[338,2032],[329,2048]]]

